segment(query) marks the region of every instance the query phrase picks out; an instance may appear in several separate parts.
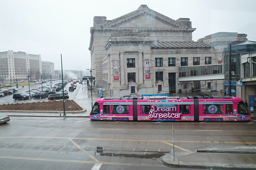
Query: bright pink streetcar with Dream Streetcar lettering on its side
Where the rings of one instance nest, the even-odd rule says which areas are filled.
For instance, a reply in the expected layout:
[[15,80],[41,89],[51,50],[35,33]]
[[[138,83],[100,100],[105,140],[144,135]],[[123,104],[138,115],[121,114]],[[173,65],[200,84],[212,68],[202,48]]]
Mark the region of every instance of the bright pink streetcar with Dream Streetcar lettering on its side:
[[251,116],[242,99],[231,96],[106,97],[98,99],[91,120],[241,121]]

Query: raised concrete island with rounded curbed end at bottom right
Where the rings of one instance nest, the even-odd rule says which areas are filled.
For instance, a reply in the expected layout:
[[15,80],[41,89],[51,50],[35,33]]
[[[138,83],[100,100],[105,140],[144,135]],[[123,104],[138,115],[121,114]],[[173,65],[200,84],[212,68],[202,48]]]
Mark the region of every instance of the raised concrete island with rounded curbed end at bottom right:
[[195,153],[167,155],[163,164],[183,168],[256,169],[256,147],[251,149],[197,150]]

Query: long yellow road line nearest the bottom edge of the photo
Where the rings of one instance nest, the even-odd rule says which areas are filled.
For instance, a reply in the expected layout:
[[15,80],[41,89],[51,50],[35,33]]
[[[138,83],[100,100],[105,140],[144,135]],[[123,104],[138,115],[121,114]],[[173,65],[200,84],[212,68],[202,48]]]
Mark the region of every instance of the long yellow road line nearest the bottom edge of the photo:
[[120,163],[120,162],[104,162],[104,161],[87,161],[87,160],[68,160],[68,159],[49,159],[49,158],[36,158],[36,157],[18,157],[18,156],[0,156],[0,158],[9,159],[27,159],[27,160],[44,160],[44,161],[60,161],[60,162],[75,162],[75,163],[102,163],[102,164],[115,164],[115,165],[129,165],[129,166],[155,166],[163,167],[163,164],[146,164],[146,163]]

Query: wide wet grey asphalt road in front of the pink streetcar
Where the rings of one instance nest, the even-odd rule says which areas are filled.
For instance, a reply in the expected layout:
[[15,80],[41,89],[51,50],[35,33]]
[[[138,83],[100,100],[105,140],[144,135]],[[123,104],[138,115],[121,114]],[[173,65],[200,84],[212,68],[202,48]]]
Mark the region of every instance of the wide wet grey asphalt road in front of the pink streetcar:
[[9,123],[0,125],[0,162],[3,169],[169,169],[162,157],[174,150],[179,155],[203,148],[255,146],[255,128],[253,121],[11,117]]

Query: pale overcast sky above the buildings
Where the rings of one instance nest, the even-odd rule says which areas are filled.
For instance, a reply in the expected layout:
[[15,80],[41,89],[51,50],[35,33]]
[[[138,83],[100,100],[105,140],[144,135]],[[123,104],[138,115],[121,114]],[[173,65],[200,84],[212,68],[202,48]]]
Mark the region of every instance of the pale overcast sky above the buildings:
[[94,16],[113,20],[147,5],[171,19],[190,18],[193,40],[217,32],[247,34],[256,41],[255,0],[0,0],[0,52],[41,54],[55,69],[91,68],[90,28]]

